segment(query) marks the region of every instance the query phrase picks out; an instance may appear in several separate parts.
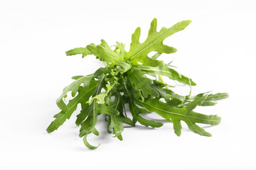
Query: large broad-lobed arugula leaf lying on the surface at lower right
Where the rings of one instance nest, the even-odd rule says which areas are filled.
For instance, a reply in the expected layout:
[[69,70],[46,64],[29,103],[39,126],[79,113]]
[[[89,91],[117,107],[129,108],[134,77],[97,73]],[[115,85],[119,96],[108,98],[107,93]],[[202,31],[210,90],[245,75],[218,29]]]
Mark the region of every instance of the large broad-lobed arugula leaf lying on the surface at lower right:
[[144,102],[138,101],[140,105],[149,111],[156,112],[166,120],[172,120],[174,123],[174,132],[176,135],[181,135],[181,120],[183,120],[190,130],[203,136],[211,136],[209,132],[200,128],[196,123],[218,125],[220,123],[220,117],[217,115],[203,115],[201,113],[193,112],[192,109],[201,104],[207,96],[201,96],[191,105],[183,108],[169,105],[169,103],[163,103],[159,101],[159,98],[153,98]]

